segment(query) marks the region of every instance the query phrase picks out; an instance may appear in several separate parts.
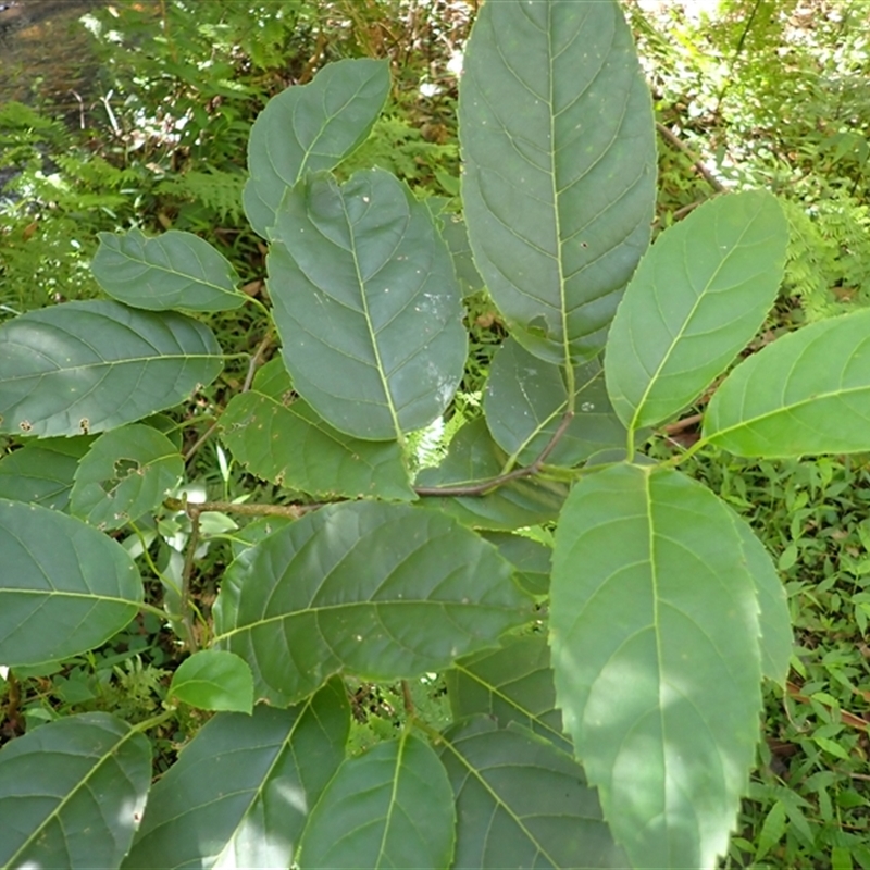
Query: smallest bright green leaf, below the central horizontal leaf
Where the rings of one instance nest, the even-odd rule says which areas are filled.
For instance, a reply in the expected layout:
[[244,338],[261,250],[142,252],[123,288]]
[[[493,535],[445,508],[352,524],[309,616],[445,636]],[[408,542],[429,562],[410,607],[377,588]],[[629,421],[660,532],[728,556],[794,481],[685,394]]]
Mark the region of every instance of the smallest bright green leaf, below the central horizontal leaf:
[[170,697],[200,710],[253,709],[253,674],[248,663],[221,649],[201,649],[185,659],[172,675]]

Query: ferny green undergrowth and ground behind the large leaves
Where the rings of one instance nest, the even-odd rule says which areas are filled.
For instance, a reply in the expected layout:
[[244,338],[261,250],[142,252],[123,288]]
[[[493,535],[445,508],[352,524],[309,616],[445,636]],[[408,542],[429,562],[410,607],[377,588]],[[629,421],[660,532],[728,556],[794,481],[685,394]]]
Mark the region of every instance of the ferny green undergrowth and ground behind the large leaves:
[[[866,306],[867,4],[626,0],[623,8],[662,127],[657,226],[680,220],[722,187],[768,187],[785,204],[792,228],[786,282],[775,315],[747,352],[807,320]],[[370,139],[339,173],[374,162],[419,196],[444,198],[449,211],[458,194],[457,73],[474,12],[468,0],[161,0],[94,3],[65,17],[16,24],[4,33],[5,45],[29,44],[44,53],[37,64],[35,54],[4,57],[0,312],[97,296],[89,272],[96,234],[130,227],[201,235],[246,276],[246,291],[264,294],[264,250],[239,204],[250,125],[271,96],[341,58],[388,58],[394,86]],[[46,55],[59,29],[77,47],[77,69],[52,65],[58,52],[50,62]],[[38,76],[23,75],[34,67]],[[240,351],[252,351],[260,339],[260,324],[247,309],[213,315],[211,325],[224,346]],[[489,360],[504,337],[483,290],[470,296],[467,325],[472,363],[445,430],[421,438],[421,464],[431,464],[477,414]],[[264,348],[265,357],[270,352]],[[262,486],[232,465],[215,442],[202,442],[244,377],[231,364],[179,421],[187,476],[209,497]],[[703,413],[704,403],[694,411]],[[650,451],[662,458],[691,445],[696,423],[692,414],[662,431]],[[4,449],[14,453],[18,446],[10,440]],[[726,863],[870,868],[866,458],[759,463],[707,450],[693,465],[779,555],[798,638],[787,693],[767,699],[769,738]],[[139,531],[134,556],[153,558],[163,571],[181,570],[178,552],[189,535],[183,515],[167,512]],[[227,518],[203,519],[196,586],[203,609],[231,558],[226,538],[234,534]],[[530,534],[546,542],[549,530]],[[20,671],[0,684],[0,738],[77,711],[111,709],[141,721],[163,700],[177,652],[159,620],[145,614],[98,652]],[[400,692],[355,688],[358,745],[391,735],[402,716]],[[430,721],[447,720],[437,679],[414,693],[418,706],[432,708]],[[158,735],[160,769],[202,718],[183,710]]]

